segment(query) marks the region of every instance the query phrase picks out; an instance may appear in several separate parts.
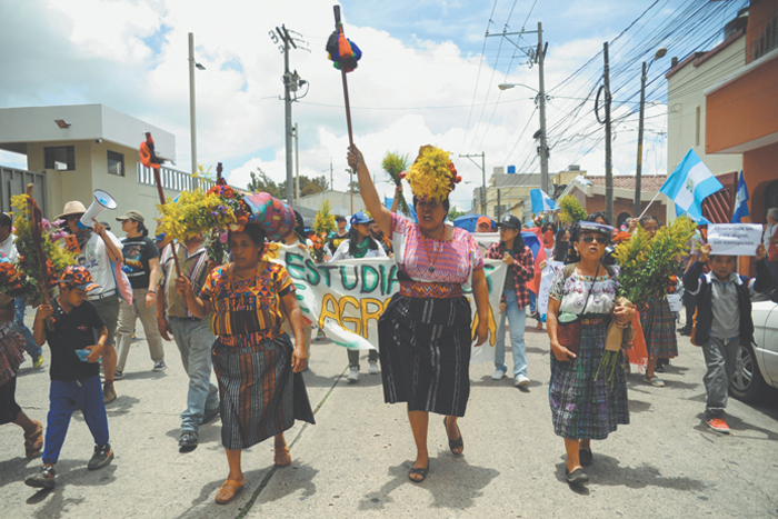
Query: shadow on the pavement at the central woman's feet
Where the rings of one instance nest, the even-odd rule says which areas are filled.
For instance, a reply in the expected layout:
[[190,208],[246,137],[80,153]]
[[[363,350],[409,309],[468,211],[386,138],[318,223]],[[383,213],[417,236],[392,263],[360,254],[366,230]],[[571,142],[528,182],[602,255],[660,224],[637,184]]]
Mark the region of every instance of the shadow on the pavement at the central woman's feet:
[[465,458],[455,458],[441,451],[437,458],[430,458],[427,479],[421,483],[415,483],[408,478],[412,466],[413,460],[409,460],[399,466],[389,467],[388,473],[393,479],[383,483],[380,489],[365,495],[359,509],[385,509],[386,505],[395,502],[391,492],[403,485],[427,490],[433,499],[430,508],[470,508],[483,493],[481,490],[500,473],[491,468],[472,466]]

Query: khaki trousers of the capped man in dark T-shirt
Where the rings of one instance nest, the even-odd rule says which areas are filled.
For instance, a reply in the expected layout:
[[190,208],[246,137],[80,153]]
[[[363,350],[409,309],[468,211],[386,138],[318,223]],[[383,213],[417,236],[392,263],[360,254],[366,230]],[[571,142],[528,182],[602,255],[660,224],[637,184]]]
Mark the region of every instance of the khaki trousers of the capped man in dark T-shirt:
[[119,303],[119,328],[117,329],[117,352],[119,360],[117,361],[117,371],[124,371],[127,356],[130,352],[130,343],[132,342],[132,332],[136,328],[136,322],[140,318],[140,323],[143,326],[146,342],[149,345],[149,355],[154,362],[164,361],[164,348],[162,346],[162,337],[159,335],[157,326],[157,306],[146,306],[147,289],[137,288],[132,290],[132,305],[121,301]]

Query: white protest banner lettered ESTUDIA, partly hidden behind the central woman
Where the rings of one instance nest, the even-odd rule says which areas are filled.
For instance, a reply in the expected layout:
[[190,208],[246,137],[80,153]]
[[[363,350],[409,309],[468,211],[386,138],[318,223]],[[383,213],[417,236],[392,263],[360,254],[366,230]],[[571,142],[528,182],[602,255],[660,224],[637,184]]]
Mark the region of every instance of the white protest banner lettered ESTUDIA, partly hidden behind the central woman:
[[[270,243],[266,259],[285,266],[289,271],[307,322],[323,329],[329,339],[345,348],[378,349],[378,319],[400,288],[393,258],[316,263],[309,251],[298,246]],[[495,343],[499,322],[506,270],[506,263],[500,260],[486,260],[483,266],[489,289],[490,345]],[[477,315],[472,291],[463,287],[463,292],[472,308],[475,328]],[[493,353],[488,360],[493,360]]]

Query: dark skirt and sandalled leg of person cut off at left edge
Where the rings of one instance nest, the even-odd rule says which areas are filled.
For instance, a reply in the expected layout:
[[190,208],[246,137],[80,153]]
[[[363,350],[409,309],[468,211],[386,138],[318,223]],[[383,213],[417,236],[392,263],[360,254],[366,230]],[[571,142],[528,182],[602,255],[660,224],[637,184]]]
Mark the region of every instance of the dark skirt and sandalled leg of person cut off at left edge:
[[0,426],[16,423],[21,427],[24,431],[24,456],[32,458],[43,448],[43,426],[31,420],[16,400],[17,371],[24,360],[22,352],[27,343],[21,333],[11,329],[14,317],[13,301],[0,308]]

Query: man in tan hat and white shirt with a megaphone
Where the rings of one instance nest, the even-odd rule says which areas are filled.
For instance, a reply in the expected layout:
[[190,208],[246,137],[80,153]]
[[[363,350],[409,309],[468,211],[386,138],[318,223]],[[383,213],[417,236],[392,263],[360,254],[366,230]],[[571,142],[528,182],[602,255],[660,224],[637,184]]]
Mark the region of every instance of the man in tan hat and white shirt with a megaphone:
[[[87,212],[87,208],[79,201],[70,201],[64,204],[62,214],[58,220],[66,220],[70,233],[78,239],[79,265],[89,270],[99,285],[99,288],[89,291],[89,300],[98,309],[98,313],[108,328],[106,348],[102,350],[102,370],[106,373],[106,382],[102,387],[102,397],[106,403],[117,398],[113,388],[113,377],[117,369],[116,331],[119,320],[119,287],[113,277],[113,266],[121,267],[123,256],[122,244],[119,239],[106,229],[106,226],[92,219],[91,229],[79,227],[79,220]],[[70,249],[76,249],[71,247]]]

